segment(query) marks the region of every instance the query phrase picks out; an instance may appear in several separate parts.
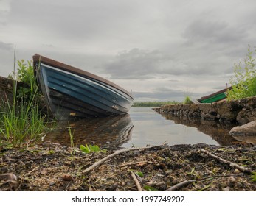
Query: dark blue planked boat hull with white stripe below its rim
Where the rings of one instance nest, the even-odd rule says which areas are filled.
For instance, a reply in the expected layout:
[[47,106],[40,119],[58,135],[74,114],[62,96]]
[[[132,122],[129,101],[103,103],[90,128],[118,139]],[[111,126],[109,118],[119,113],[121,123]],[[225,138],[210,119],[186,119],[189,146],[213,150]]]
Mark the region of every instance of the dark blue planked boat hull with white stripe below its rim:
[[131,108],[133,97],[108,80],[63,69],[58,62],[47,64],[44,59],[34,65],[47,106],[57,119],[116,116]]

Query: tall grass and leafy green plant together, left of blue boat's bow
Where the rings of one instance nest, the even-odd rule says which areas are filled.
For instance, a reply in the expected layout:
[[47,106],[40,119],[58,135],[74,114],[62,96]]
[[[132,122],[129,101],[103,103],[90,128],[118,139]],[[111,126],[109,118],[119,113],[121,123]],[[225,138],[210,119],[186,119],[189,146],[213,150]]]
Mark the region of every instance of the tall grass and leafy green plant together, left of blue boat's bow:
[[[31,63],[18,61],[18,76],[13,71],[13,101],[5,97],[0,113],[0,142],[2,146],[21,147],[38,141],[47,131],[46,116],[39,109],[38,86],[31,73]],[[27,72],[26,72],[27,70]],[[30,76],[30,77],[28,77]],[[29,93],[18,93],[18,80],[30,82]],[[27,83],[26,82],[26,83]]]

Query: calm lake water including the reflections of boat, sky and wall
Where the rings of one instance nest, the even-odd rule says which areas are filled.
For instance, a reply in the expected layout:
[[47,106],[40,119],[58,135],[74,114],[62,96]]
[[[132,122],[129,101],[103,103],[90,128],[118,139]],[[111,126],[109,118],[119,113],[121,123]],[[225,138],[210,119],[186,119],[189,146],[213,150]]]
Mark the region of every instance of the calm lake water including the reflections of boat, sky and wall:
[[75,146],[90,143],[116,149],[162,143],[227,146],[235,142],[229,135],[233,126],[223,126],[215,121],[191,121],[187,118],[161,115],[151,107],[131,107],[130,113],[124,116],[59,122],[58,129],[47,135],[44,141],[70,146],[68,125],[71,127]]

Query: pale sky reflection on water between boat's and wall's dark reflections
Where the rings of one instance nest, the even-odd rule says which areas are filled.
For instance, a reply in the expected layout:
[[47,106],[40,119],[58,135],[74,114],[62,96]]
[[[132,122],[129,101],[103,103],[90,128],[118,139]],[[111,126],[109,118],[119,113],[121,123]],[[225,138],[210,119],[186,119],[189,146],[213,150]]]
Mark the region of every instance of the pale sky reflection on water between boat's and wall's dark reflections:
[[198,131],[195,127],[187,127],[183,124],[175,124],[174,121],[154,112],[150,107],[132,107],[130,112],[134,124],[131,141],[123,146],[145,146],[147,144],[169,145],[182,143],[207,143],[218,145],[209,135]]

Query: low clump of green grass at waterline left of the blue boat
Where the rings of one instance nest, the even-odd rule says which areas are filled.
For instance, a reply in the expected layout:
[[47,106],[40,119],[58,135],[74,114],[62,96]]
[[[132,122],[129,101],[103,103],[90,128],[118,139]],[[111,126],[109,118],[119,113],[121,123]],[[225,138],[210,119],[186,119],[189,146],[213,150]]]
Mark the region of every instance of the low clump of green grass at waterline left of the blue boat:
[[1,142],[10,147],[20,148],[36,142],[47,130],[45,117],[41,116],[36,104],[19,102],[10,106],[7,103],[6,112],[1,112],[0,116]]

